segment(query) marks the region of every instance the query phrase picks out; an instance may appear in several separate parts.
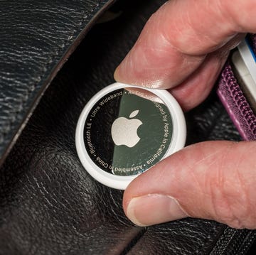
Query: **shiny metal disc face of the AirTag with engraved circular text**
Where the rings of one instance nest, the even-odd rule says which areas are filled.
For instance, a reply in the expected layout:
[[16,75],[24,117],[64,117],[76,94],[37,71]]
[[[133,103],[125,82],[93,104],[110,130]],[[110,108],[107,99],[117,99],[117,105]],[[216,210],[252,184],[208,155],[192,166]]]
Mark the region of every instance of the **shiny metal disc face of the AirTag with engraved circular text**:
[[90,158],[114,175],[137,175],[154,166],[168,151],[172,135],[171,114],[164,102],[134,87],[102,97],[84,128]]

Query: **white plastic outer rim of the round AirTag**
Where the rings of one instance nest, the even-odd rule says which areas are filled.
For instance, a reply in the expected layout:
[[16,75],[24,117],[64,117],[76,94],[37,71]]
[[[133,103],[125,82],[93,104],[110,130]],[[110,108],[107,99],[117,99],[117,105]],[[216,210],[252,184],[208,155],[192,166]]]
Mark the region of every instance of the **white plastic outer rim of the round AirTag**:
[[156,94],[163,102],[166,104],[166,107],[169,109],[169,112],[172,117],[173,121],[173,136],[169,146],[168,151],[166,151],[165,156],[162,160],[171,154],[179,151],[186,142],[186,121],[184,118],[184,114],[182,109],[176,99],[165,89],[148,89],[145,87],[137,87],[134,85],[127,85],[120,82],[113,83],[105,87],[104,89],[97,92],[92,99],[85,105],[85,108],[82,110],[80,114],[78,125],[75,131],[75,146],[78,151],[78,157],[84,166],[85,170],[93,177],[95,180],[99,181],[100,183],[107,185],[110,188],[115,188],[118,190],[125,190],[129,183],[137,178],[138,175],[130,175],[130,176],[122,176],[122,175],[113,175],[111,173],[105,172],[99,168],[90,158],[87,150],[85,148],[85,141],[84,141],[84,128],[85,128],[85,121],[87,119],[88,114],[90,113],[92,107],[106,94],[117,90],[117,89],[125,89],[126,87],[134,87],[138,89],[145,89],[153,94]]

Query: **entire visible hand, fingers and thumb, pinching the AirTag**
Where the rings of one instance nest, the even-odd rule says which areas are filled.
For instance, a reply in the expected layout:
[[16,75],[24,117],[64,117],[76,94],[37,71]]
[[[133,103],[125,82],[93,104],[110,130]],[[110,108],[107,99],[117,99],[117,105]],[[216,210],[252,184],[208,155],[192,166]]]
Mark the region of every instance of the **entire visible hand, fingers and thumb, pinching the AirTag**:
[[[253,0],[167,1],[114,77],[169,89],[184,110],[191,109],[208,96],[243,33],[256,33],[255,11]],[[191,216],[254,229],[255,149],[254,141],[188,146],[128,186],[124,212],[141,226]]]

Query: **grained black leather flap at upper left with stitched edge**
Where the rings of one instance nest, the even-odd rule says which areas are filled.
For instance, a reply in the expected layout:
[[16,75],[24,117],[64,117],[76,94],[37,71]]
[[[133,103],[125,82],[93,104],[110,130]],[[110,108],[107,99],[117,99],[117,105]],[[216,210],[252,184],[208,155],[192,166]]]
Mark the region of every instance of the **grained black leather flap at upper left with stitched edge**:
[[0,1],[0,163],[80,33],[111,2]]

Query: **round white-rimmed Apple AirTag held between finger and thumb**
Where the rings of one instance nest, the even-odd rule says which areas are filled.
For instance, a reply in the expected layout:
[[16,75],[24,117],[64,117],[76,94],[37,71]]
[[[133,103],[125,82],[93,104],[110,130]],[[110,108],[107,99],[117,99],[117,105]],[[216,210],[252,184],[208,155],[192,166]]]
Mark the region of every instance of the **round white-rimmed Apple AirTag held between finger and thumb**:
[[183,112],[169,92],[119,82],[90,99],[75,134],[87,172],[119,190],[183,148],[185,141]]

